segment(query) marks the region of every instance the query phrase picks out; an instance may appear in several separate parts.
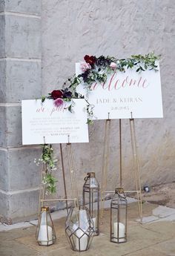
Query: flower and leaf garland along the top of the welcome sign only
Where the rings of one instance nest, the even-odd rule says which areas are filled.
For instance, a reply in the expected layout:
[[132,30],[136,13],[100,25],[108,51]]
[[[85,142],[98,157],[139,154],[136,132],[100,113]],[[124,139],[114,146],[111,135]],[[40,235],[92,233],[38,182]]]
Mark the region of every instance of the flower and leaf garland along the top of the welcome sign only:
[[113,72],[125,72],[127,68],[136,67],[136,72],[145,70],[156,70],[155,64],[159,56],[155,56],[154,53],[148,53],[145,56],[133,55],[128,59],[116,59],[110,56],[88,56],[84,57],[85,62],[81,62],[80,67],[82,74],[79,74],[79,79],[85,85],[89,86],[93,82],[106,82],[108,75]]

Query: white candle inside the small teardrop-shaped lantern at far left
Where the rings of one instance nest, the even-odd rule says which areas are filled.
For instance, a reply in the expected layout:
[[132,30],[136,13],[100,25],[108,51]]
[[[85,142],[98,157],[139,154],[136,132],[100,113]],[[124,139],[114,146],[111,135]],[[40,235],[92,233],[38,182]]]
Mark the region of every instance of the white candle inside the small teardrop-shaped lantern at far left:
[[[47,230],[48,230],[48,237],[47,237]],[[53,244],[52,228],[50,226],[47,226],[47,225],[40,226],[38,241],[41,243],[42,246],[50,246],[50,244]]]

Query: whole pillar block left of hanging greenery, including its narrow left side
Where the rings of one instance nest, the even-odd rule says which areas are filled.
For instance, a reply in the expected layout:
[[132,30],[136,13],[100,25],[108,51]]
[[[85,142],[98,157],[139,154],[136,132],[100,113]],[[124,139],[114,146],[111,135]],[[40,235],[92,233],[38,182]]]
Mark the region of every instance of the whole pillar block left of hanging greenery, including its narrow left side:
[[0,189],[16,191],[39,186],[40,166],[33,161],[41,153],[34,147],[0,150]]

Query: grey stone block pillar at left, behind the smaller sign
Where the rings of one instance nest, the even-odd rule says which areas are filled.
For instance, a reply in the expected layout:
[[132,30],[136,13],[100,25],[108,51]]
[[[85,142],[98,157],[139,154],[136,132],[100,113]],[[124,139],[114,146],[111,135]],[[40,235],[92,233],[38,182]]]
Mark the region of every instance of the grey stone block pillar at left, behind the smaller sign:
[[0,214],[6,223],[36,214],[40,148],[22,146],[22,99],[41,96],[40,1],[0,1]]

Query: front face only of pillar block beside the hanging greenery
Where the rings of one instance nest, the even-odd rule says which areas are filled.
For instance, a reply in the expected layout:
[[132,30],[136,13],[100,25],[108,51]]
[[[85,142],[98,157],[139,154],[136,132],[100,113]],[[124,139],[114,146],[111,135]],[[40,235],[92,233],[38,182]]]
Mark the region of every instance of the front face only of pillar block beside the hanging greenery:
[[42,150],[34,147],[8,150],[10,191],[39,186],[40,166],[34,163],[34,159],[41,154]]

